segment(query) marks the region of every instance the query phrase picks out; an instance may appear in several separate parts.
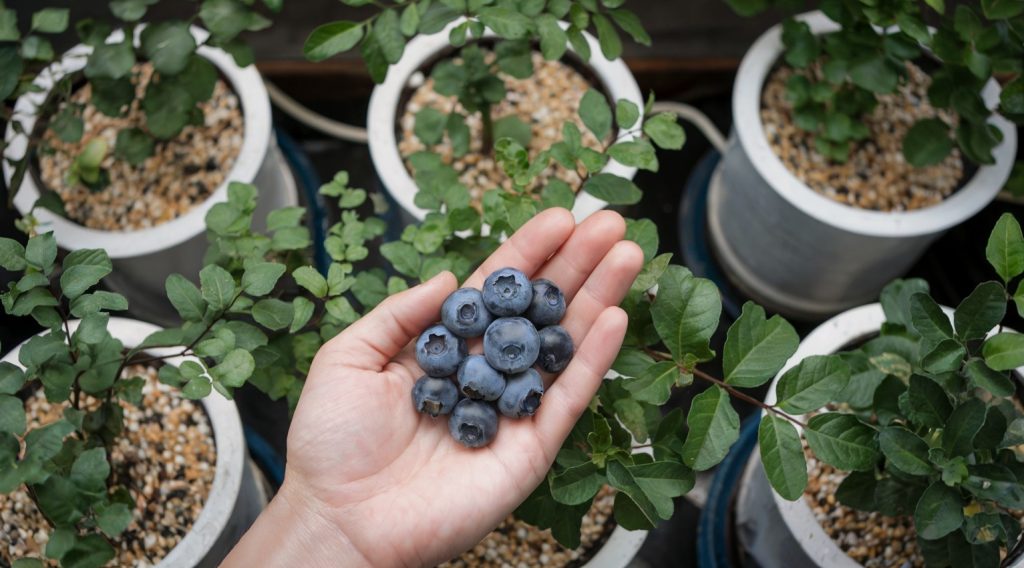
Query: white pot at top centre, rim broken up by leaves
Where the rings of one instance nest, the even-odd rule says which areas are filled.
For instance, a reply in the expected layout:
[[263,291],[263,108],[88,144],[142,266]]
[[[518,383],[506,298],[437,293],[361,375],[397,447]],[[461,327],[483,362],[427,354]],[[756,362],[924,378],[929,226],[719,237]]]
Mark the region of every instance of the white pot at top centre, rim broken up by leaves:
[[[410,78],[414,73],[422,71],[421,68],[437,53],[451,47],[449,43],[449,32],[458,26],[461,20],[450,24],[444,30],[429,36],[418,36],[406,46],[406,51],[401,59],[391,65],[388,70],[387,78],[383,83],[374,88],[370,97],[370,111],[367,115],[367,130],[370,135],[370,156],[374,161],[374,168],[380,176],[385,189],[407,213],[418,220],[423,220],[427,215],[427,210],[416,206],[414,199],[419,188],[413,180],[413,176],[406,169],[406,163],[398,154],[397,124],[404,108],[399,108],[402,92],[409,86]],[[567,24],[561,23],[567,27]],[[636,79],[630,73],[629,68],[622,59],[608,60],[601,53],[600,45],[590,34],[584,33],[587,43],[590,44],[591,57],[588,67],[594,72],[608,95],[611,97],[611,104],[620,99],[627,99],[643,108],[644,100],[640,94],[640,87],[637,86]],[[494,32],[487,30],[485,37],[496,37]],[[623,137],[623,140],[635,139],[638,135]],[[625,178],[633,179],[636,175],[636,168],[630,168],[610,161],[605,166],[605,173],[615,174]],[[590,193],[581,191],[577,194],[575,206],[572,214],[577,222],[586,219],[593,213],[604,209],[608,204]]]

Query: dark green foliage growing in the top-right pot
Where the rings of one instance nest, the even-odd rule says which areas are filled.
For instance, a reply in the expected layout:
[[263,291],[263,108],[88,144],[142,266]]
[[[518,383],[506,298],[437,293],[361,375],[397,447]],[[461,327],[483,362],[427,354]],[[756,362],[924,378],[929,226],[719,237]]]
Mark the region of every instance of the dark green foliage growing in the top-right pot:
[[[769,7],[799,8],[793,0],[727,0],[741,15]],[[958,146],[975,164],[994,164],[1002,141],[989,124],[993,112],[1024,123],[1024,5],[981,0],[946,11],[944,0],[813,3],[841,26],[816,36],[807,24],[782,24],[786,64],[798,73],[786,83],[796,125],[814,135],[822,156],[845,162],[851,147],[868,136],[862,117],[876,96],[892,93],[906,77],[906,63],[934,61],[928,99],[956,113],[957,124],[939,118],[918,121],[903,139],[903,156],[915,167],[941,162]],[[930,12],[930,13],[929,13]],[[934,30],[927,26],[934,21]],[[926,53],[927,50],[927,53]],[[1008,77],[998,108],[981,97],[993,75]]]

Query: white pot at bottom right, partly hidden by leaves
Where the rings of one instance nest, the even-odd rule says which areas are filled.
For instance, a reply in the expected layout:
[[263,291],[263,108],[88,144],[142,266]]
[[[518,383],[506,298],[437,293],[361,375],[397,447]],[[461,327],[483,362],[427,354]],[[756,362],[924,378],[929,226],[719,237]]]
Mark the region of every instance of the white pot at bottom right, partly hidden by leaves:
[[[952,317],[952,309],[942,309]],[[800,343],[800,348],[772,381],[765,402],[776,402],[779,378],[800,361],[811,355],[836,353],[853,343],[870,339],[885,320],[882,305],[868,304],[845,311],[816,327]],[[1017,372],[1024,372],[1024,367]],[[762,568],[861,566],[825,534],[803,496],[791,501],[771,489],[761,464],[760,447],[754,450],[748,463],[736,503],[740,539]],[[1024,568],[1024,559],[1018,559],[1011,566]]]

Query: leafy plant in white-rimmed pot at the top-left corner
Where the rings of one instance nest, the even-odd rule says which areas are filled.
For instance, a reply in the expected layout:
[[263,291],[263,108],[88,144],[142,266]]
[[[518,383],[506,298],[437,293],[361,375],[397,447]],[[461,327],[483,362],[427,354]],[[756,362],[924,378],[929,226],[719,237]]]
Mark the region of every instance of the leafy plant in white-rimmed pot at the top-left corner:
[[[115,2],[112,21],[0,7],[10,103],[0,154],[8,205],[51,227],[63,251],[105,250],[118,266],[106,285],[136,315],[172,322],[164,280],[202,268],[203,219],[228,182],[258,178],[265,211],[296,194],[239,38],[269,20],[246,2],[208,0],[190,20],[142,24],[152,4]],[[54,54],[47,37],[70,27],[82,43]]]

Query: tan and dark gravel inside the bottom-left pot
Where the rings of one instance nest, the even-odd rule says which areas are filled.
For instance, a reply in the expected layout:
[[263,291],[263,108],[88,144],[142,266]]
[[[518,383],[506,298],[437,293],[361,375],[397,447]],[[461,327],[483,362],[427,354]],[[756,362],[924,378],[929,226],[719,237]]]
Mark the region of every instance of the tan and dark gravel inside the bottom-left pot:
[[[115,566],[153,566],[177,545],[203,510],[213,485],[217,452],[210,420],[202,405],[161,384],[152,366],[130,366],[124,377],[143,377],[142,405],[122,402],[125,431],[111,452],[114,482],[135,499],[133,520],[114,542]],[[83,398],[84,406],[95,400]],[[60,418],[63,405],[43,392],[26,404],[29,429]],[[23,485],[0,494],[0,564],[43,558],[52,530]]]

